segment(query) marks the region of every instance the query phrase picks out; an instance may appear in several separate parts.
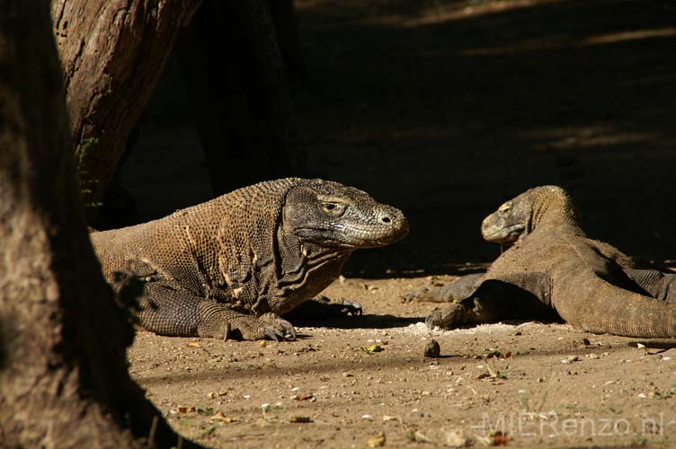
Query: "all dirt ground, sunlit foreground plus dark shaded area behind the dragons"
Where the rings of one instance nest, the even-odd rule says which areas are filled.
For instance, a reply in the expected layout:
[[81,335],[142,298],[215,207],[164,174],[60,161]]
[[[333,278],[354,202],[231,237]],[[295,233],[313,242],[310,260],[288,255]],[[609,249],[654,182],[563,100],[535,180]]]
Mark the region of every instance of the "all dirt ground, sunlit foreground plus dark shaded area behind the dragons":
[[[481,219],[542,184],[572,192],[591,236],[674,265],[673,2],[296,4],[308,175],[400,207],[411,234],[355,254],[328,289],[365,315],[298,341],[139,332],[131,372],[172,425],[213,447],[368,447],[380,432],[386,447],[676,445],[669,345],[558,323],[430,333],[433,305],[401,299],[493,260]],[[180,93],[170,66],[122,172],[143,220],[211,198]],[[424,359],[431,338],[442,357]]]

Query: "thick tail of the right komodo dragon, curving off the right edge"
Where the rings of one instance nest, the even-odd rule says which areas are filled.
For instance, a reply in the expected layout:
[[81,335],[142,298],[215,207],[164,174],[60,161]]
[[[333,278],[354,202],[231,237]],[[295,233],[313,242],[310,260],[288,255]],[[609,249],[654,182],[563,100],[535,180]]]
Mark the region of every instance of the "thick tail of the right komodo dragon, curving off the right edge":
[[570,283],[574,291],[561,292],[569,301],[556,307],[574,327],[626,337],[676,337],[676,304],[612,286],[592,273],[584,277]]

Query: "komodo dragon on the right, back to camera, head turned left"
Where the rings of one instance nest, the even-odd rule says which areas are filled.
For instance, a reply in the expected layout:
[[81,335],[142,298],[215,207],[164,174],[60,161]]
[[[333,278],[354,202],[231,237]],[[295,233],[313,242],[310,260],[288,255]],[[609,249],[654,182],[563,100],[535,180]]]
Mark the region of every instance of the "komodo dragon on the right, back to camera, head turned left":
[[556,317],[594,333],[676,337],[676,274],[640,269],[585,236],[573,200],[556,186],[529,189],[482,223],[488,242],[513,244],[485,274],[423,288],[408,299],[454,302],[429,327]]

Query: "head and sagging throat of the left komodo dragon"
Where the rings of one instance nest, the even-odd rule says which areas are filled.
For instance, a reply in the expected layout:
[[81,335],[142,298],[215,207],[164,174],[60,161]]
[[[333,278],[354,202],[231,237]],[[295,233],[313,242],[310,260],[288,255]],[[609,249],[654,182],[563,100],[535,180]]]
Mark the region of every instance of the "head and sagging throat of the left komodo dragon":
[[399,209],[359,189],[326,180],[279,182],[288,189],[275,224],[278,288],[267,300],[275,313],[288,313],[324,290],[341,274],[352,251],[384,246],[408,234]]

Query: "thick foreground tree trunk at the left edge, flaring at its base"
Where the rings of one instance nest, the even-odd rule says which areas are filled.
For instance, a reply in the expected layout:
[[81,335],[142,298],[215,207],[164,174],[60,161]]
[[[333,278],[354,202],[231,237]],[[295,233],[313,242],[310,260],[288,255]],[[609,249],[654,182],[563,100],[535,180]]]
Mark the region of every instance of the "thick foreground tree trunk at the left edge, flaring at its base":
[[0,445],[177,445],[87,236],[49,2],[0,11]]

